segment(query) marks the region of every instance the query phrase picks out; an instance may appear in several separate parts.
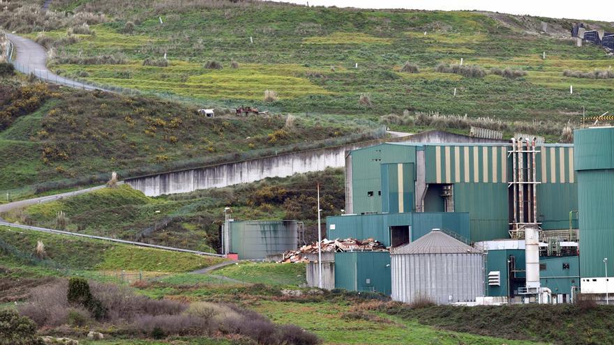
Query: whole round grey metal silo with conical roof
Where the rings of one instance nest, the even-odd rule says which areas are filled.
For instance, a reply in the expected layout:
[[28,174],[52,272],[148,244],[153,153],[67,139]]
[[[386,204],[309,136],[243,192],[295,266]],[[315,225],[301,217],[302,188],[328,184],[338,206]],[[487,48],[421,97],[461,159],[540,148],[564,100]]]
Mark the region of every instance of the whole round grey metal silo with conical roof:
[[484,296],[484,253],[434,229],[391,250],[392,299],[437,304]]

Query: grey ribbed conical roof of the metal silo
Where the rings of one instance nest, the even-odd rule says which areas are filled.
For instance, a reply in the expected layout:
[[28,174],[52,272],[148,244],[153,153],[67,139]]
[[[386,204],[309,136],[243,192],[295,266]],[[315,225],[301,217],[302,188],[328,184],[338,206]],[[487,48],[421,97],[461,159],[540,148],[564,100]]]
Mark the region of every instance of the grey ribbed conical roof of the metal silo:
[[465,245],[442,231],[433,230],[412,243],[391,250],[391,254],[480,254],[481,250]]

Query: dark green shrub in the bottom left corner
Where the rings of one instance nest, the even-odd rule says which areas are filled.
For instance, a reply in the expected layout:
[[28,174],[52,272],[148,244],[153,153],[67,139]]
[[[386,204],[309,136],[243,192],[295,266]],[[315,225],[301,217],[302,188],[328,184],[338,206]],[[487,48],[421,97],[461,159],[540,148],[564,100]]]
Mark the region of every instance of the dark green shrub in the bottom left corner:
[[0,310],[0,345],[38,345],[36,323],[10,309]]

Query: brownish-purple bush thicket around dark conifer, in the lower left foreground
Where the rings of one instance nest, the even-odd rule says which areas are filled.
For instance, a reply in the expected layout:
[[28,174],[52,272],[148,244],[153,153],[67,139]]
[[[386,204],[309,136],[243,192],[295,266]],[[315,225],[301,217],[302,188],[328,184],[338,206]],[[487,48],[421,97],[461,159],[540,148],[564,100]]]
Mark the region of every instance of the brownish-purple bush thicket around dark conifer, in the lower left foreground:
[[96,326],[93,320],[97,320],[112,323],[122,334],[153,338],[222,334],[248,337],[258,344],[320,343],[315,335],[297,326],[275,325],[261,314],[231,303],[186,305],[172,300],[151,300],[135,294],[127,286],[88,283],[82,278],[39,286],[18,309],[41,327],[67,323]]

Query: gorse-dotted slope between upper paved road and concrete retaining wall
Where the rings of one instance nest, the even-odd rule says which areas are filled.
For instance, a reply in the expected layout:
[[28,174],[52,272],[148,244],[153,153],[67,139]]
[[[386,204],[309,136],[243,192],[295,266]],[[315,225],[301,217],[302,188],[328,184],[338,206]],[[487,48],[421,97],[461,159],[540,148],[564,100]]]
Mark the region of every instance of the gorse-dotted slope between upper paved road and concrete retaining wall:
[[[375,124],[270,114],[240,118],[144,96],[58,89],[17,76],[0,82],[0,194],[104,183],[183,167],[370,138]],[[223,116],[226,115],[226,116]],[[351,137],[345,137],[352,135]]]

